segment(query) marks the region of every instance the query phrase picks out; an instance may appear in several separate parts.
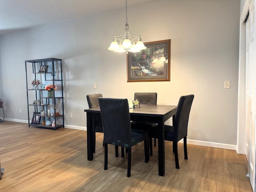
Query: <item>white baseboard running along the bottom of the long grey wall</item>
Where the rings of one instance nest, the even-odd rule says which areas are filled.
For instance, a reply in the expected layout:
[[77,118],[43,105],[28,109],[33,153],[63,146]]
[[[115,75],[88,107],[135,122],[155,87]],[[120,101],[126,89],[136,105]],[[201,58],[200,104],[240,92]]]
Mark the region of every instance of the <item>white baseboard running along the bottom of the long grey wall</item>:
[[[1,118],[1,119],[3,119],[3,118]],[[13,121],[13,122],[20,122],[20,123],[28,123],[28,120],[10,119],[10,118],[5,118],[4,120]],[[76,129],[76,130],[83,130],[83,131],[87,130],[86,127],[82,127],[82,126],[64,125],[64,127],[68,128],[68,129]],[[183,139],[180,140],[179,142],[183,143]],[[199,141],[199,140],[187,139],[187,144],[200,145],[200,146],[206,146],[206,147],[214,147],[214,148],[221,148],[221,149],[229,149],[229,150],[236,150],[236,145],[230,145],[230,144],[224,144],[224,143],[215,143],[215,142],[208,142],[208,141]]]

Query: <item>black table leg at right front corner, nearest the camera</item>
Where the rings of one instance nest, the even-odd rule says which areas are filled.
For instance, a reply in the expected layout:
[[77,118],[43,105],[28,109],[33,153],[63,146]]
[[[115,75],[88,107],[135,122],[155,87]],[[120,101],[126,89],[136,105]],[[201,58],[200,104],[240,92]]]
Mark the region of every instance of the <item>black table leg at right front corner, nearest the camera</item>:
[[165,157],[164,157],[164,119],[158,122],[158,175],[165,174]]

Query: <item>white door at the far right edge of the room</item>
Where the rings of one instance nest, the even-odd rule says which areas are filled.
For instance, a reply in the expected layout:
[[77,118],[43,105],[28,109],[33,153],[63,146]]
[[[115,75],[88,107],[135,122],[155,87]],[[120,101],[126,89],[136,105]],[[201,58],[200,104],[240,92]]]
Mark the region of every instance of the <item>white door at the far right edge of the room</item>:
[[246,22],[246,158],[248,160],[248,176],[255,191],[255,120],[256,120],[256,49],[255,49],[255,3],[251,1],[249,17]]

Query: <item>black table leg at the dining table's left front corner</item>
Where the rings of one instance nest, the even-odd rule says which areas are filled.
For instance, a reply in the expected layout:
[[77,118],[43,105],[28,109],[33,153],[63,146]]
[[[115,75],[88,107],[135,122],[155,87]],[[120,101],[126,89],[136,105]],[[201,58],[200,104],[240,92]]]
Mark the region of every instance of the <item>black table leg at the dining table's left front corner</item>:
[[92,118],[90,112],[86,112],[87,121],[87,159],[93,160],[93,134],[92,134]]

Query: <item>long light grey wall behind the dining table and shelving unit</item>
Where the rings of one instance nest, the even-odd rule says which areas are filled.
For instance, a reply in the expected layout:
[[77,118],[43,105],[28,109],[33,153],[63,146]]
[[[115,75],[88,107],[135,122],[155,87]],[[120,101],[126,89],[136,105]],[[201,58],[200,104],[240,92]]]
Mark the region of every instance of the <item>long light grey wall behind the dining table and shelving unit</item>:
[[[240,0],[128,6],[130,31],[142,41],[171,39],[170,82],[126,82],[126,54],[107,50],[113,35],[124,30],[124,8],[2,35],[6,118],[27,119],[24,60],[54,57],[64,63],[67,127],[86,127],[87,94],[132,99],[134,92],[157,92],[158,104],[166,105],[194,94],[188,139],[236,145],[239,18]],[[224,80],[231,81],[230,89],[224,89]]]

